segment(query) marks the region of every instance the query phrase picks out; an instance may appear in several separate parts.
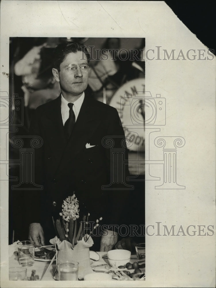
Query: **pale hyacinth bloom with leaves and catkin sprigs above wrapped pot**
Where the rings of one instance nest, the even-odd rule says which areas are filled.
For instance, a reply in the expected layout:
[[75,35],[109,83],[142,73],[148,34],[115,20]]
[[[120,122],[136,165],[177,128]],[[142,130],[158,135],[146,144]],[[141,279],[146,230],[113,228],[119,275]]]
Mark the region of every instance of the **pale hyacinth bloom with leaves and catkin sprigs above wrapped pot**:
[[[87,219],[85,215],[83,216],[82,222],[80,222],[80,227],[77,232],[79,203],[75,194],[73,194],[73,196],[67,197],[64,200],[62,204],[62,212],[60,212],[59,215],[61,216],[61,219],[57,219],[56,221],[53,220],[53,224],[57,237],[60,239],[60,241],[66,240],[70,242],[72,245],[72,249],[74,249],[78,241],[88,241],[90,235],[92,234],[92,231],[90,232],[90,235],[88,235],[84,234],[84,230],[87,228],[88,216],[90,216],[90,213],[88,213]],[[96,229],[97,226],[99,226],[100,220],[102,220],[102,217],[100,217],[99,220],[96,220],[96,225],[94,226],[93,230]]]

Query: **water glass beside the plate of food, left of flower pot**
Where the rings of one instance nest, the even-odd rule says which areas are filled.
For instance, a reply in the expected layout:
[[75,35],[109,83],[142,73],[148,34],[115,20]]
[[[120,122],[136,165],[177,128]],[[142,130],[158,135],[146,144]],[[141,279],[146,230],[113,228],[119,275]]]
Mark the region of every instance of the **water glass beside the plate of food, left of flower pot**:
[[34,241],[21,241],[17,244],[20,266],[34,265]]

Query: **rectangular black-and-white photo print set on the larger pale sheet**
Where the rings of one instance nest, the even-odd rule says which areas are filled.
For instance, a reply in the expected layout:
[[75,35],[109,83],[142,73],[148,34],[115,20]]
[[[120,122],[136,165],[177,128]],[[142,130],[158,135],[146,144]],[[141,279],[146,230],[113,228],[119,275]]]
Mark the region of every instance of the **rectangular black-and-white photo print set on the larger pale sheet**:
[[[10,38],[9,94],[22,97],[11,99],[9,244],[55,244],[59,263],[75,259],[65,245],[101,259],[125,250],[137,260],[136,245],[145,243],[144,49],[144,38]],[[55,236],[61,244],[51,243]],[[91,260],[80,280],[96,269]],[[126,278],[144,276],[144,256],[134,262]],[[46,265],[38,263],[40,278]]]

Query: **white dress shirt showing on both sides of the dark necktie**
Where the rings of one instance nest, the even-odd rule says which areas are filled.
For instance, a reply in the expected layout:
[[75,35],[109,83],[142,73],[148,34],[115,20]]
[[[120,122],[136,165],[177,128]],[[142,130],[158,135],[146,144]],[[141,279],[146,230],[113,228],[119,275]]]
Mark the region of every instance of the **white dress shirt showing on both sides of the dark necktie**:
[[[74,104],[73,111],[75,114],[75,121],[77,120],[77,117],[80,113],[80,108],[82,106],[84,96],[85,96],[85,94],[83,92],[82,95],[80,96],[80,98],[73,102],[73,104]],[[63,125],[65,124],[65,122],[69,118],[70,108],[67,106],[68,103],[70,103],[70,102],[68,102],[61,94],[61,117],[62,117]]]

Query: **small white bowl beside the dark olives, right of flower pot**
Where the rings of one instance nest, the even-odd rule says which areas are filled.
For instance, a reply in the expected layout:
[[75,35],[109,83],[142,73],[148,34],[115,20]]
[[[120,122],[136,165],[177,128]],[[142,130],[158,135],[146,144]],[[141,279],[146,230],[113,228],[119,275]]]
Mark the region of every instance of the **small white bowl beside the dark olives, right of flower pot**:
[[112,267],[125,266],[130,262],[131,252],[124,249],[110,250],[107,252],[109,264]]

